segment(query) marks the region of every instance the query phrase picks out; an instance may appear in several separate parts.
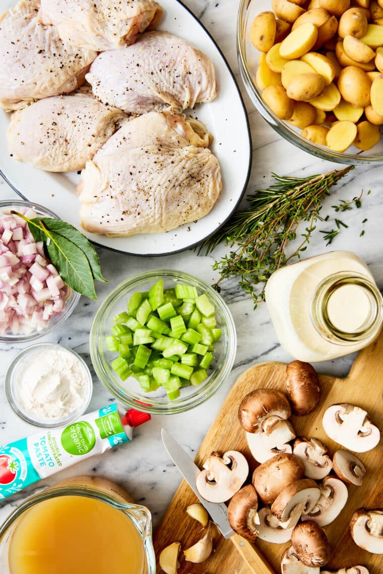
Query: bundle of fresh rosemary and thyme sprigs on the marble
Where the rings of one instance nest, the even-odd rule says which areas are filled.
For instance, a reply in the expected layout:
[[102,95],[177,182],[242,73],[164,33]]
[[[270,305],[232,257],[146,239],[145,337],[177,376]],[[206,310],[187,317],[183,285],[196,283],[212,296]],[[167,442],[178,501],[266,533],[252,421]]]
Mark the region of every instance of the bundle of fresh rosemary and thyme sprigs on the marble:
[[[221,281],[237,277],[242,289],[253,298],[256,308],[258,302],[264,301],[270,275],[291,259],[300,258],[301,252],[307,249],[315,223],[322,221],[322,200],[330,195],[332,185],[353,168],[349,165],[305,178],[281,177],[273,173],[276,183],[249,196],[249,207],[234,214],[229,223],[199,247],[198,253],[206,250],[206,254],[221,241],[233,248],[212,267],[220,273],[214,287],[220,290]],[[303,239],[295,251],[287,255],[287,247],[297,238],[303,222],[307,223],[300,234]]]

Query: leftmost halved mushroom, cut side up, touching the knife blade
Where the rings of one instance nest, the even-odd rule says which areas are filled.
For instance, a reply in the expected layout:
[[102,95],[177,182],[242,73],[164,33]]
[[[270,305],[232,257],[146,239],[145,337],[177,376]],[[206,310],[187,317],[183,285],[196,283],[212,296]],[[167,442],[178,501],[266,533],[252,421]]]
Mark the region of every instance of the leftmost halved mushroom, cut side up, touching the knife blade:
[[[230,466],[229,466],[230,465]],[[241,488],[249,474],[247,460],[238,451],[212,452],[196,478],[199,494],[209,502],[225,502]]]

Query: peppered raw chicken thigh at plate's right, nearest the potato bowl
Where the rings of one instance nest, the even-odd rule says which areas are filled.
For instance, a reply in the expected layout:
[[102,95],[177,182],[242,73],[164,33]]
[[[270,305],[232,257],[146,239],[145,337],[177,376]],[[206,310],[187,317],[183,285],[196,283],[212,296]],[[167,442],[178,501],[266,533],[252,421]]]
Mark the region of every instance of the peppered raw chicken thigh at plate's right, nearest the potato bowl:
[[182,111],[216,96],[211,61],[169,32],[145,32],[136,44],[101,53],[86,79],[101,102],[132,114]]

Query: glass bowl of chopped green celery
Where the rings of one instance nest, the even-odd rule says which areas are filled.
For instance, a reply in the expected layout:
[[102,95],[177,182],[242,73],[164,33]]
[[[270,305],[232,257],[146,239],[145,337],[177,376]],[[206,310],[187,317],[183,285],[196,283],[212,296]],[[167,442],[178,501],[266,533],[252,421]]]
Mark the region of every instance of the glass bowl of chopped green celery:
[[152,414],[202,404],[233,367],[237,335],[222,297],[198,277],[155,270],[123,281],[90,333],[100,381],[123,405]]

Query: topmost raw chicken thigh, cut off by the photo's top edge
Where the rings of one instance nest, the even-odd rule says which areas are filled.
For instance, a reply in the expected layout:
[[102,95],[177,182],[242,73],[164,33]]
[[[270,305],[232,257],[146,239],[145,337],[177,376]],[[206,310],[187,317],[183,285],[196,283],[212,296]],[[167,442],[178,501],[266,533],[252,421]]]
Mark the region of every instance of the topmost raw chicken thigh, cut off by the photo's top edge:
[[132,44],[162,15],[154,0],[41,0],[39,18],[57,26],[65,42],[102,52]]

